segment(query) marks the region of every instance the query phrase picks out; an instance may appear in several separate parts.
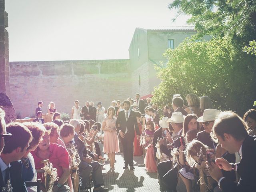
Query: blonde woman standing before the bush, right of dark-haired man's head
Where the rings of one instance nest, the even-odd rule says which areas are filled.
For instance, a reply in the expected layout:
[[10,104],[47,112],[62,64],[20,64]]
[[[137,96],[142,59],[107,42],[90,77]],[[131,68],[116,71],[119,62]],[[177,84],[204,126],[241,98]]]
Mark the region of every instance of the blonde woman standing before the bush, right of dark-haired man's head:
[[188,108],[186,108],[186,112],[190,114],[196,114],[198,117],[202,116],[200,110],[200,99],[196,94],[190,93],[186,96],[186,100],[188,102]]

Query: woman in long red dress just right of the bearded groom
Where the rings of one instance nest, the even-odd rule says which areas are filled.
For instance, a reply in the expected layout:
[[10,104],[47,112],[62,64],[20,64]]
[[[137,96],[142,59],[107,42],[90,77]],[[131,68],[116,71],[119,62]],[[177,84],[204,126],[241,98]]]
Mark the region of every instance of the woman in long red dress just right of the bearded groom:
[[[137,123],[138,123],[138,128],[140,130],[140,135],[144,131],[144,122],[145,122],[145,117],[143,117],[140,113],[140,111],[136,111],[136,118],[137,118]],[[143,154],[143,148],[140,145],[140,139],[137,139],[136,132],[135,132],[135,137],[134,137],[134,156],[142,156]]]

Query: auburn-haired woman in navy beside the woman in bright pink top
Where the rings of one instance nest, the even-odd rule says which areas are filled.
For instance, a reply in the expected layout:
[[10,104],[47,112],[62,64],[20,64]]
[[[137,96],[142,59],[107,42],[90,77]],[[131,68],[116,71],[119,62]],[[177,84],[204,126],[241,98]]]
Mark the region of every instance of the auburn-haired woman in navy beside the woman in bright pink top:
[[[46,129],[42,124],[36,122],[24,122],[23,124],[30,130],[32,140],[29,143],[26,153],[20,159],[22,162],[22,180],[24,182],[34,182],[37,180],[37,173],[34,158],[30,152],[36,150]],[[34,191],[34,187],[28,188],[28,191]]]

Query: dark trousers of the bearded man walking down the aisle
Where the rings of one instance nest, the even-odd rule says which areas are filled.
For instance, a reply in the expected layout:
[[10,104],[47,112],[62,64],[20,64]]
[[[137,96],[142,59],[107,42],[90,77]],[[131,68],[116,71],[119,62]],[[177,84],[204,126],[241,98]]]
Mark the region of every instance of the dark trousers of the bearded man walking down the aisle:
[[133,141],[134,134],[127,132],[124,138],[120,138],[124,151],[124,166],[133,167]]

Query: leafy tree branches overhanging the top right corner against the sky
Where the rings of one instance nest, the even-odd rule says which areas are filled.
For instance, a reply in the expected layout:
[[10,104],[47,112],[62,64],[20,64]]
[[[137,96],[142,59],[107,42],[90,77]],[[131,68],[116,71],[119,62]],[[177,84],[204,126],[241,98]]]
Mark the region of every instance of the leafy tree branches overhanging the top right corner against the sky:
[[170,9],[191,15],[198,36],[247,36],[256,26],[255,0],[174,0]]

